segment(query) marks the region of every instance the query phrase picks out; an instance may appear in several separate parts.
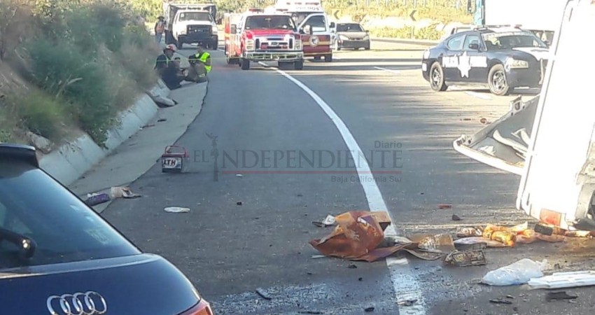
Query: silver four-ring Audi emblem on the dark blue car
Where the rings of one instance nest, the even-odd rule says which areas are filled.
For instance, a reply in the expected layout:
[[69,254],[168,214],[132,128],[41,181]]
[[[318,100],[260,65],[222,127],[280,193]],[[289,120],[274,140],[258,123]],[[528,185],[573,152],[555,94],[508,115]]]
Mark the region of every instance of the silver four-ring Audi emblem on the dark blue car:
[[52,295],[47,305],[51,315],[101,315],[107,311],[106,300],[94,291]]

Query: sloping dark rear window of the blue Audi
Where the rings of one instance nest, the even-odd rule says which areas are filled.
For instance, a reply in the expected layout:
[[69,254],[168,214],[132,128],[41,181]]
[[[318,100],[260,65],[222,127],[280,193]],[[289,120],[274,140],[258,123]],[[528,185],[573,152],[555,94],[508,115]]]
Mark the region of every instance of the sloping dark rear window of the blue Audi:
[[0,237],[0,269],[139,253],[41,169],[18,160],[0,159],[0,232],[37,246],[30,260],[22,260],[18,247]]

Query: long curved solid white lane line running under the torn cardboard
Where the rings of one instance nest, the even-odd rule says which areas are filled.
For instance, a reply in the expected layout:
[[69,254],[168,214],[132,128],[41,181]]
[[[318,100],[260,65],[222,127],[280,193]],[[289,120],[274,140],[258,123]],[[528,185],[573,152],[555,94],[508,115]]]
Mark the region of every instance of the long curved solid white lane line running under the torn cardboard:
[[[326,104],[326,102],[324,102],[324,100],[318,96],[318,94],[310,90],[309,87],[304,85],[304,83],[302,83],[300,80],[293,78],[293,76],[290,76],[284,71],[274,67],[271,68],[275,69],[277,73],[285,76],[288,78],[288,80],[295,83],[295,85],[309,94],[309,96],[314,99],[314,102],[316,102],[316,104],[318,104],[318,106],[320,106],[326,115],[332,120],[332,123],[335,123],[335,127],[337,127],[337,130],[339,130],[339,133],[343,137],[343,141],[345,141],[345,144],[349,148],[350,152],[352,154],[357,152],[358,156],[364,156],[363,151],[361,151],[356,139],[353,138],[349,128],[345,125],[345,123],[343,123],[343,120],[337,116],[337,113],[335,113],[335,111],[333,111],[330,106],[328,106],[328,104]],[[391,218],[391,222],[393,224],[388,225],[384,231],[384,235],[386,237],[398,237],[397,230],[394,226],[395,221],[388,212],[386,204],[384,203],[384,198],[380,193],[380,188],[378,188],[376,182],[374,181],[374,176],[372,172],[370,172],[370,166],[367,164],[367,161],[364,159],[363,162],[358,163],[356,170],[358,172],[359,178],[361,179],[360,183],[364,190],[370,211],[384,211]],[[388,267],[388,274],[391,276],[391,282],[393,283],[393,289],[395,290],[397,302],[416,300],[415,304],[410,307],[401,306],[399,304],[399,314],[425,315],[426,303],[424,302],[423,295],[421,294],[419,281],[411,272],[407,258],[388,257],[386,258],[386,265]]]

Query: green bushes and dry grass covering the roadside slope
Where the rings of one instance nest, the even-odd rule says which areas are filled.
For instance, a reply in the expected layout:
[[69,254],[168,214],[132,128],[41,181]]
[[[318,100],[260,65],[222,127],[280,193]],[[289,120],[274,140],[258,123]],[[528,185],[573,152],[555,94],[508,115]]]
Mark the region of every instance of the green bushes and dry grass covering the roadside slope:
[[157,83],[138,16],[128,1],[0,0],[0,141],[80,128],[103,145],[118,111]]

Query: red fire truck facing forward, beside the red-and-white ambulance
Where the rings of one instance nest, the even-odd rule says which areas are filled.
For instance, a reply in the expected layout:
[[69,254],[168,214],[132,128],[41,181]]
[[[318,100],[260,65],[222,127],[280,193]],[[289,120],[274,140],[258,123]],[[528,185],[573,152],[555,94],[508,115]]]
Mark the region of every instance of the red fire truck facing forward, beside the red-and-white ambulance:
[[225,20],[225,57],[228,64],[250,69],[251,62],[279,62],[304,67],[302,36],[290,15],[262,13],[227,13]]

